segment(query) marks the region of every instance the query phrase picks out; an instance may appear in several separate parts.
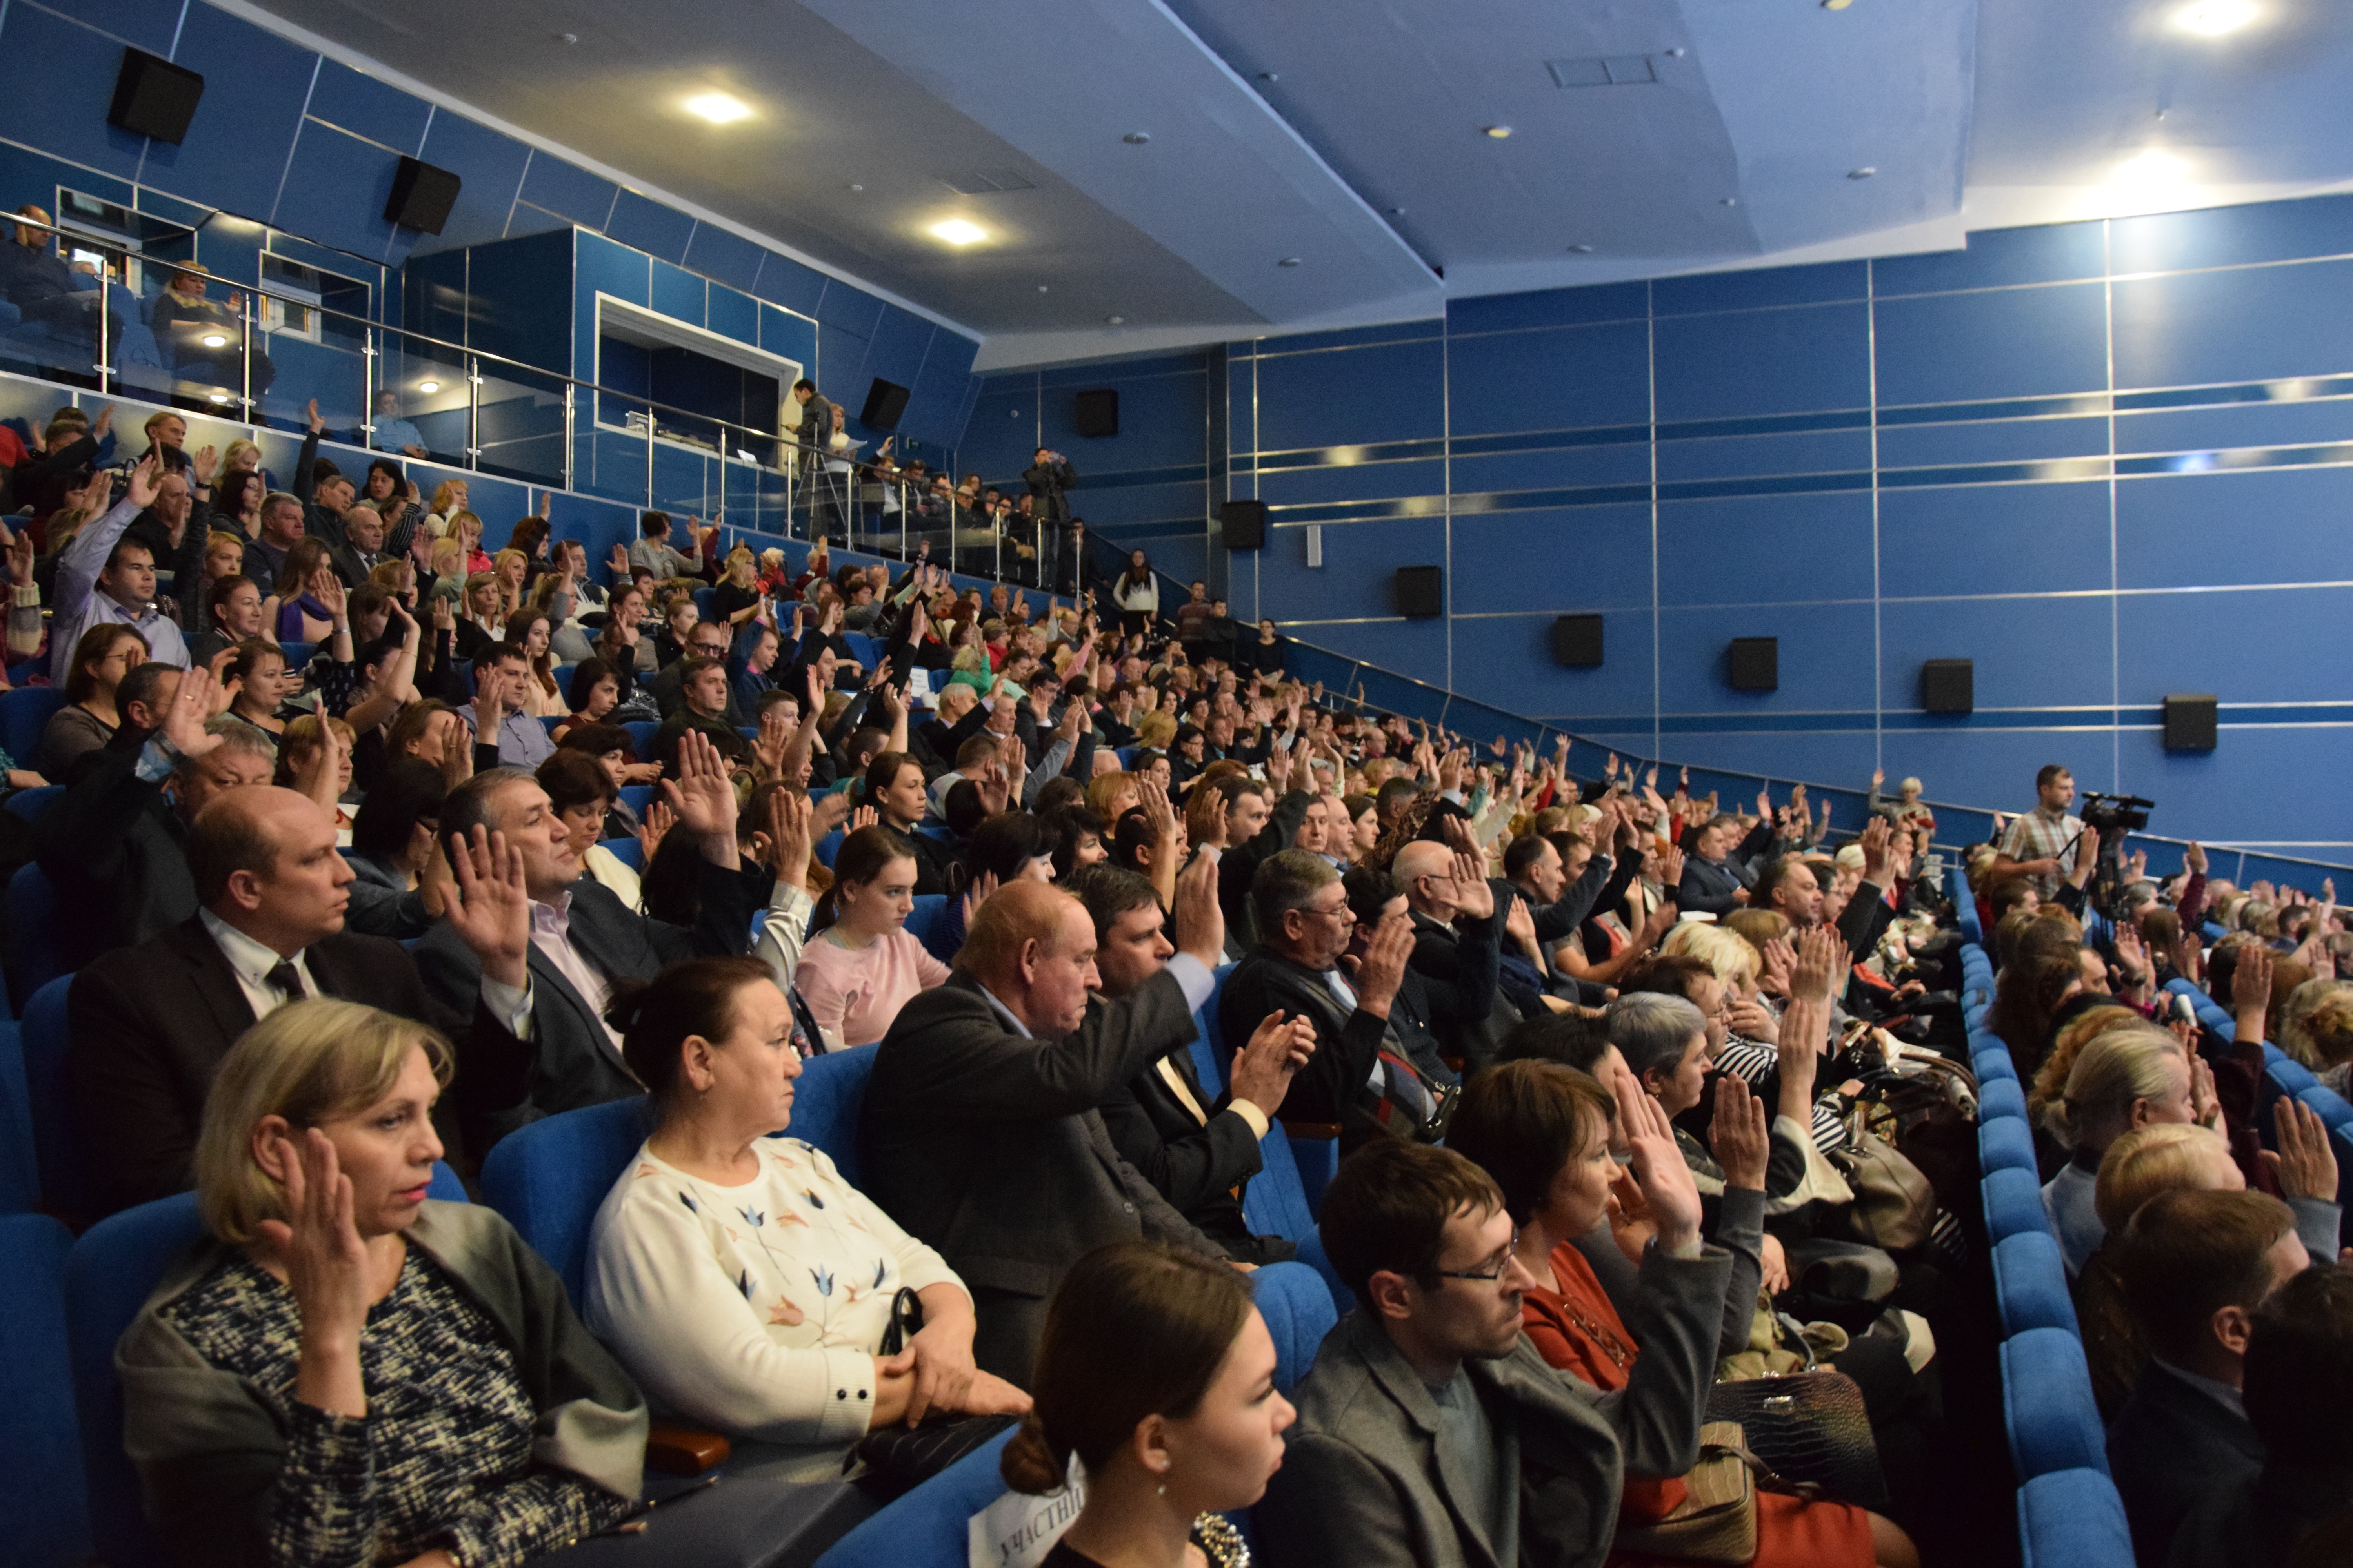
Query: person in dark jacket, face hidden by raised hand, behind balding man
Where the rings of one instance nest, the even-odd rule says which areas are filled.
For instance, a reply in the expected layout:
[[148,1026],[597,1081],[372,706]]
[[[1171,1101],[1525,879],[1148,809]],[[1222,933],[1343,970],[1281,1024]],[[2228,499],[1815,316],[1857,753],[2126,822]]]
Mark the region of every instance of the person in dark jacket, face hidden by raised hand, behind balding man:
[[118,689],[122,733],[42,816],[40,870],[56,886],[56,936],[73,969],[193,917],[188,823],[216,795],[271,780],[268,738],[209,719],[216,691],[205,670],[139,665]]

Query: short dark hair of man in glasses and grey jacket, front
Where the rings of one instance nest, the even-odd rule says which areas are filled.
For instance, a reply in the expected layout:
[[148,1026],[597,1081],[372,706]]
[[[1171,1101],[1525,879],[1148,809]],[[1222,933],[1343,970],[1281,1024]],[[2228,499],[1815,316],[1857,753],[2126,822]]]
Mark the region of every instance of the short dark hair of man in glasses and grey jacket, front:
[[1318,1232],[1332,1269],[1369,1312],[1374,1274],[1435,1276],[1447,1220],[1464,1208],[1482,1220],[1504,1208],[1492,1175],[1454,1150],[1379,1138],[1339,1164]]

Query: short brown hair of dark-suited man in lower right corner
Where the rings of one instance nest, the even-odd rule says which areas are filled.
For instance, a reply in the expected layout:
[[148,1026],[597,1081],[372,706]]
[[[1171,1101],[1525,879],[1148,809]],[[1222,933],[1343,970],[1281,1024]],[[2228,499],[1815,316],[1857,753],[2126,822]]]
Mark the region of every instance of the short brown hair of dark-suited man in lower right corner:
[[2254,1307],[2271,1288],[2264,1255],[2297,1215],[2264,1192],[2160,1192],[2125,1225],[2118,1269],[2148,1347],[2188,1361],[2224,1307]]

